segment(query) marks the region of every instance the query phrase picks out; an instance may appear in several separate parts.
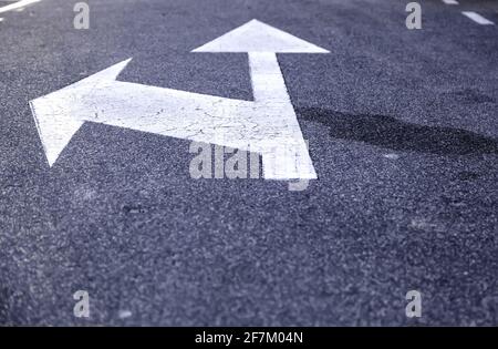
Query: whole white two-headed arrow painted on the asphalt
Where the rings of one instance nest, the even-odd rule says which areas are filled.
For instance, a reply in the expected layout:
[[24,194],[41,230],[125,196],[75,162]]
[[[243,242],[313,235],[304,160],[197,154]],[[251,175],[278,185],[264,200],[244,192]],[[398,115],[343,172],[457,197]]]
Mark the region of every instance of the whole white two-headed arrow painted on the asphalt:
[[49,165],[85,122],[261,154],[267,179],[315,179],[276,53],[328,53],[252,20],[193,52],[247,52],[253,101],[116,81],[131,59],[30,102]]

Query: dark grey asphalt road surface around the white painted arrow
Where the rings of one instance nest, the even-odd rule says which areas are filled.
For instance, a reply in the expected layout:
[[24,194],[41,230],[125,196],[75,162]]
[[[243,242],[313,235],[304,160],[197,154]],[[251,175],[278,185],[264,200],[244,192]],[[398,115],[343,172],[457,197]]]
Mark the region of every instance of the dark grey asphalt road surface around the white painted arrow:
[[[498,28],[461,13],[497,2],[423,0],[419,30],[400,0],[89,0],[87,30],[75,2],[0,13],[0,324],[498,325]],[[98,123],[48,165],[29,102],[128,58],[120,81],[251,101],[247,54],[190,51],[252,19],[330,51],[278,54],[305,191]]]

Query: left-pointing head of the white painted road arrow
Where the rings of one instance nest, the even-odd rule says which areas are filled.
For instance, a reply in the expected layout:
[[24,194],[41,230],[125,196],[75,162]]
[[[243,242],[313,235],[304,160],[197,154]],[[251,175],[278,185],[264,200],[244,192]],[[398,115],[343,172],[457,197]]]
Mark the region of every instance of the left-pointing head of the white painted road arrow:
[[30,101],[31,112],[45,152],[52,166],[61,152],[80,130],[89,110],[80,101],[95,89],[113,83],[131,59],[112,65],[62,90]]

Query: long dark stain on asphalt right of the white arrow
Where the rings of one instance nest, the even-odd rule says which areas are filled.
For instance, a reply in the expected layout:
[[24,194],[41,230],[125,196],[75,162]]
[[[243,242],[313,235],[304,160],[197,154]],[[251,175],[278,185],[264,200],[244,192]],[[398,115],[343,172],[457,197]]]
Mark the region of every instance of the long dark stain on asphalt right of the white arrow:
[[326,125],[334,138],[438,155],[498,154],[497,140],[461,129],[425,126],[388,115],[345,114],[321,109],[302,109],[298,113],[304,120]]

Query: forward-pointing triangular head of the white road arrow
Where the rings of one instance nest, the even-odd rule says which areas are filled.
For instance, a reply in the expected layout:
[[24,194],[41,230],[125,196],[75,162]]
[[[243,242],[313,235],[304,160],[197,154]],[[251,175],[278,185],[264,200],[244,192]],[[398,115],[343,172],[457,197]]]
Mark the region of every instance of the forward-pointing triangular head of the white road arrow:
[[329,53],[325,49],[256,19],[191,52]]

